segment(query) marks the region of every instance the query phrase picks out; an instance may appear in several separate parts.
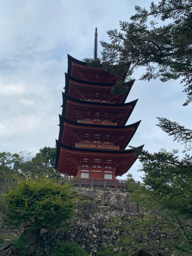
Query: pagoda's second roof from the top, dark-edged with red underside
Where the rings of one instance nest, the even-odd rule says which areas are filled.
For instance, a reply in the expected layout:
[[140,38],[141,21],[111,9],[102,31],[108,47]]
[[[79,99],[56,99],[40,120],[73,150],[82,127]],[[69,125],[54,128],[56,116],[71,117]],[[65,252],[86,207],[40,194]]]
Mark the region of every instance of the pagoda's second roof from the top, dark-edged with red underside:
[[78,90],[84,90],[86,93],[107,93],[107,96],[114,99],[113,101],[115,103],[124,103],[130,93],[133,83],[127,82],[125,83],[125,86],[128,87],[128,92],[126,94],[114,95],[110,92],[113,88],[113,84],[82,81],[65,73],[65,93],[74,99],[78,99],[79,97]]

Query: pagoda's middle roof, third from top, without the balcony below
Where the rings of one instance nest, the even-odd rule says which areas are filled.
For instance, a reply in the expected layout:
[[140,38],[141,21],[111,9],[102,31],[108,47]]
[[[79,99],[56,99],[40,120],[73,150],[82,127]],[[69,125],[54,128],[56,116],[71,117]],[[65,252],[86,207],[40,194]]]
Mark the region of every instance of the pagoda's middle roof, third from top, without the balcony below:
[[[85,100],[76,100],[71,98],[65,93],[62,93],[62,116],[70,119],[71,121],[78,121],[80,110],[84,110],[86,115],[92,111],[92,114],[112,115],[114,122],[117,122],[118,126],[124,126],[130,117],[137,100],[132,102],[115,104],[115,103],[98,103],[89,102]],[[99,111],[99,112],[98,112]]]

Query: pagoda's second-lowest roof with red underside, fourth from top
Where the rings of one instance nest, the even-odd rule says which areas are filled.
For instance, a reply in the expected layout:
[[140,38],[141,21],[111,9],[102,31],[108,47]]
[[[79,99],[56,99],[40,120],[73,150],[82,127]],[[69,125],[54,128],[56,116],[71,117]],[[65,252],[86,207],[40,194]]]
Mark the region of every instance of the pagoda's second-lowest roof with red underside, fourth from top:
[[[78,132],[80,134],[90,134],[93,138],[95,138],[94,135],[97,135],[97,137],[98,135],[103,135],[106,141],[109,139],[106,135],[110,134],[110,138],[114,138],[113,141],[119,145],[119,149],[124,150],[133,138],[140,121],[128,126],[110,126],[103,124],[75,123],[59,115],[59,123],[59,141],[65,145],[74,147],[74,136],[76,136]],[[97,138],[95,138],[95,140],[97,140]]]

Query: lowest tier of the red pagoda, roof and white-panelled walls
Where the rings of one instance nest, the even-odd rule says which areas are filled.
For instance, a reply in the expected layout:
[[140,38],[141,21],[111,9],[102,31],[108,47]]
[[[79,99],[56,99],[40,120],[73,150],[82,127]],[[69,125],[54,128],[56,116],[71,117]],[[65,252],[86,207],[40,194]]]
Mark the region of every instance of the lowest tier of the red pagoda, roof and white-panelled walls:
[[127,172],[136,160],[133,150],[74,148],[59,141],[56,141],[56,145],[59,155],[58,171],[73,176],[81,177],[82,173],[87,173],[89,178],[93,178],[92,173],[95,173],[94,176],[101,176],[102,173],[100,178],[104,178],[104,174],[112,174],[115,178]]

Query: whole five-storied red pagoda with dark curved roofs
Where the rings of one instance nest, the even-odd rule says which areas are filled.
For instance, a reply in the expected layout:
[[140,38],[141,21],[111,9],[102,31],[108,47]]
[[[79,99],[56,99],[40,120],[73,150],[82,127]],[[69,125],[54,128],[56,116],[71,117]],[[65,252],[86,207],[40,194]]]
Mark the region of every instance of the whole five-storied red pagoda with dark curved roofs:
[[125,150],[140,121],[125,125],[137,100],[125,103],[128,93],[113,95],[119,77],[68,55],[56,168],[62,174],[115,180],[133,165],[133,150]]

